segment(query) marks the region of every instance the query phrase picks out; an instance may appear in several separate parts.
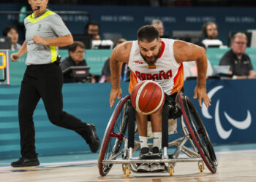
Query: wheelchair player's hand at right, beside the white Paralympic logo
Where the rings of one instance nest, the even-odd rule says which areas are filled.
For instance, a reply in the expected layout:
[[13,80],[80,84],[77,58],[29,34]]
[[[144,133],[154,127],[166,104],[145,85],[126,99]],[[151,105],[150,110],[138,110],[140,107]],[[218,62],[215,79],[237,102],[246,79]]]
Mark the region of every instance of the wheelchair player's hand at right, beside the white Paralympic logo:
[[198,95],[198,103],[199,106],[202,107],[202,99],[203,103],[206,104],[206,107],[211,106],[211,99],[208,98],[208,95],[206,93],[206,86],[196,86],[195,92],[194,92],[194,98],[197,98]]

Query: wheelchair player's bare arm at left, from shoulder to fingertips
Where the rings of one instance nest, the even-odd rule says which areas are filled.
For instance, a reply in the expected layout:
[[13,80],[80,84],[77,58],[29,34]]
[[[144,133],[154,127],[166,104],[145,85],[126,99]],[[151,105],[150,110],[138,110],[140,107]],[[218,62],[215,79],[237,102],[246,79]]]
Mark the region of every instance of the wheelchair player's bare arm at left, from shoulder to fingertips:
[[116,98],[121,98],[120,75],[122,63],[128,63],[129,52],[132,47],[132,41],[124,42],[113,49],[110,56],[110,71],[112,88],[110,92],[110,108],[113,107]]

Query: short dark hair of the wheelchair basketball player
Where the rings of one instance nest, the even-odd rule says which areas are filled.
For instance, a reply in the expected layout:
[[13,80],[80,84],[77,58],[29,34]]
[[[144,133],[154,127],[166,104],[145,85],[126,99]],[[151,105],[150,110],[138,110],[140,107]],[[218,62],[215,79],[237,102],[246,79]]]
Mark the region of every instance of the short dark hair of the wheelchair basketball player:
[[159,33],[157,28],[152,25],[145,25],[141,27],[137,32],[138,41],[151,42],[154,39],[159,39]]

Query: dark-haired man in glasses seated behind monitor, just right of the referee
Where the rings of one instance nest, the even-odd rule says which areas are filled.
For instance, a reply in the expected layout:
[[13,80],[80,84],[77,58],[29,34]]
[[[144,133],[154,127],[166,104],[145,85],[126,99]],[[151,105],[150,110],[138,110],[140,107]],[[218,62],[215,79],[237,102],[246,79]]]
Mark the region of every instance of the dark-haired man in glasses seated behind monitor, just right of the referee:
[[[61,61],[61,70],[69,68],[70,66],[87,66],[85,55],[85,45],[81,41],[74,41],[72,45],[69,46],[69,57]],[[64,83],[70,82],[90,82],[87,79],[75,79],[70,74],[64,75]],[[94,83],[95,79],[91,78],[91,82]]]

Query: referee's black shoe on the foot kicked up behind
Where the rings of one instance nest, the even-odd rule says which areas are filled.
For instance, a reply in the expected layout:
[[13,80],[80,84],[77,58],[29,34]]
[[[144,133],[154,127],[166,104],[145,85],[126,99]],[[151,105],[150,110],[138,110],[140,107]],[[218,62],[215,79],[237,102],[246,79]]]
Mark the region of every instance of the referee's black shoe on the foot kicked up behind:
[[99,149],[99,137],[94,124],[87,124],[87,128],[88,130],[82,136],[86,140],[86,143],[89,144],[91,151],[95,153]]

